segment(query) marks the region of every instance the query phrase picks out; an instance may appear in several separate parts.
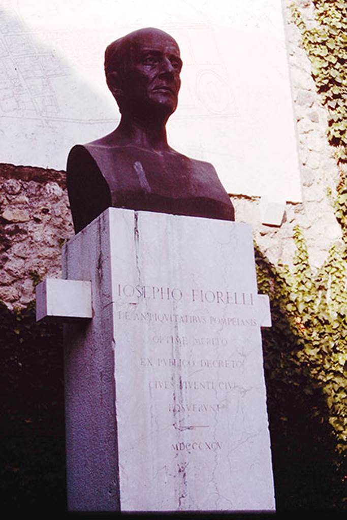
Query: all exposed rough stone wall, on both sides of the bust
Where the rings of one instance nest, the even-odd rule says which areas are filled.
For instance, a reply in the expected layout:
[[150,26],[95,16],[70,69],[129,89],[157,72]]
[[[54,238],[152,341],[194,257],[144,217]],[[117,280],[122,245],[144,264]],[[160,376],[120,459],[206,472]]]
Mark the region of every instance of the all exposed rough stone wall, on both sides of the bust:
[[[295,249],[293,226],[299,225],[307,241],[311,266],[317,269],[330,246],[341,242],[341,229],[327,196],[328,187],[335,191],[338,168],[326,138],[326,111],[316,93],[300,32],[291,20],[291,0],[282,1],[303,202],[287,203],[281,226],[271,227],[260,224],[258,198],[232,199],[236,220],[253,225],[255,241],[272,263],[282,259],[291,264]],[[305,21],[314,24],[312,2],[299,0],[297,4]],[[65,173],[3,164],[0,177],[0,300],[11,308],[21,307],[33,300],[35,281],[60,277],[60,249],[73,235]]]

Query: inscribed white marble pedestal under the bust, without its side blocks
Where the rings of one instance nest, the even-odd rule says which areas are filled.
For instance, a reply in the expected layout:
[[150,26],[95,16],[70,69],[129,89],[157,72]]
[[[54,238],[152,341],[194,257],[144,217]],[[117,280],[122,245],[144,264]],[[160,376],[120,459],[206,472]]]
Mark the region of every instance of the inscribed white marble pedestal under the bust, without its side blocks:
[[108,209],[63,278],[69,509],[274,510],[250,227]]

